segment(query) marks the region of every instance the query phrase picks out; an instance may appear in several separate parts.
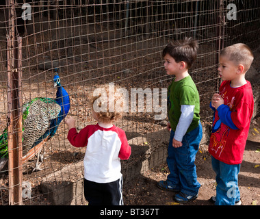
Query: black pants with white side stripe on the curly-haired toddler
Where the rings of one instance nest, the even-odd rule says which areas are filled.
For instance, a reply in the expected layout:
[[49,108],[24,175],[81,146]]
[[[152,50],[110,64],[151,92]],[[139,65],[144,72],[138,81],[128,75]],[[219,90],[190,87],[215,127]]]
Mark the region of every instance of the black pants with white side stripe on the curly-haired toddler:
[[122,177],[111,183],[84,179],[84,196],[88,205],[123,205]]

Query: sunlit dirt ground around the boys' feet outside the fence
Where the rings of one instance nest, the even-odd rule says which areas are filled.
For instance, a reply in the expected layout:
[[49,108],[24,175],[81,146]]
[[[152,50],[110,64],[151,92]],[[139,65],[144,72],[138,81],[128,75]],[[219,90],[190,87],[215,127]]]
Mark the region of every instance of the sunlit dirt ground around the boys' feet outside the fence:
[[[260,118],[251,125],[239,172],[239,190],[242,205],[260,205]],[[258,132],[257,132],[258,131]],[[198,181],[201,184],[198,198],[185,205],[213,205],[209,198],[216,195],[215,172],[207,145],[200,146],[196,155]],[[179,205],[173,201],[174,192],[157,188],[157,181],[166,180],[167,164],[148,170],[133,182],[125,185],[125,205]]]

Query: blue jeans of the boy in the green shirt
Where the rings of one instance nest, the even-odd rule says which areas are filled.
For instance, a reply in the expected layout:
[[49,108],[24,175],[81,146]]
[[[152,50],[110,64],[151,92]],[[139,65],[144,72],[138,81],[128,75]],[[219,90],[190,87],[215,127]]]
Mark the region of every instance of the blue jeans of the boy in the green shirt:
[[183,146],[174,148],[172,146],[174,131],[170,132],[167,157],[170,174],[167,179],[172,182],[174,188],[189,196],[198,194],[200,188],[200,183],[197,181],[196,166],[194,162],[202,136],[203,129],[199,123],[196,129],[183,136]]

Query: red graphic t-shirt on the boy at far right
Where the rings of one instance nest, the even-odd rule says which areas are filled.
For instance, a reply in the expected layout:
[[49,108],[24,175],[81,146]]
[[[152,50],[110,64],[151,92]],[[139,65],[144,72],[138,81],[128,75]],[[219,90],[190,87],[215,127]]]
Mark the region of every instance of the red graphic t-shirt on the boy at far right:
[[222,123],[220,120],[222,115],[220,116],[221,113],[216,110],[209,142],[209,153],[225,164],[241,164],[254,110],[254,99],[249,81],[239,88],[232,88],[230,82],[222,82],[219,94],[224,99],[224,105],[229,106],[231,111],[229,116],[237,129],[232,129]]

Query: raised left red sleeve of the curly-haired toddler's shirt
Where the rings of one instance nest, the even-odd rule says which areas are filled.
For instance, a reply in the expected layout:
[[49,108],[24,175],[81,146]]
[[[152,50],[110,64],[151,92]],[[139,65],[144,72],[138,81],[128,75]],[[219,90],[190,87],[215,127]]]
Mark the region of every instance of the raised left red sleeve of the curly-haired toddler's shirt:
[[79,133],[77,133],[77,130],[75,128],[70,129],[68,131],[68,140],[70,142],[70,144],[72,144],[75,147],[83,147],[86,146],[88,144],[88,126],[81,129],[81,131],[79,131]]

